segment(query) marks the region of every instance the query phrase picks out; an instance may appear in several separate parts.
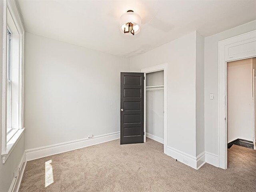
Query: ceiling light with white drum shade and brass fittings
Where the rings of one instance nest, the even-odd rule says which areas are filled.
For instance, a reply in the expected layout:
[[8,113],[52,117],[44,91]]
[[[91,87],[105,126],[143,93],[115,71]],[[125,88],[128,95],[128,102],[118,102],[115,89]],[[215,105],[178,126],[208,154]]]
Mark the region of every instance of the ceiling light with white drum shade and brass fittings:
[[133,10],[128,10],[120,17],[120,31],[126,35],[138,34],[141,30],[141,18]]

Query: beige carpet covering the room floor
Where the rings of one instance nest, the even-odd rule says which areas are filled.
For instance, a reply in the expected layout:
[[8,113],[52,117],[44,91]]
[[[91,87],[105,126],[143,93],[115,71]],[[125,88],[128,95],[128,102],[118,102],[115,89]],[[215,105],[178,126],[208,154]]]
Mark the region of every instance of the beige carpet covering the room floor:
[[[53,183],[45,187],[49,160]],[[19,192],[256,192],[255,150],[233,145],[228,165],[194,170],[164,154],[154,140],[114,140],[27,162]]]

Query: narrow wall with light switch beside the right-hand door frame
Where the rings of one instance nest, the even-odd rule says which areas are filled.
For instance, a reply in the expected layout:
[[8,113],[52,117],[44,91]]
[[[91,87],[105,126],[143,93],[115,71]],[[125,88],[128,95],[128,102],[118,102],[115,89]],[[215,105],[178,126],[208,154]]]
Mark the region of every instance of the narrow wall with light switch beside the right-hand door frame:
[[[205,150],[218,155],[218,41],[256,29],[256,21],[204,39],[204,127]],[[210,100],[210,93],[214,100]]]

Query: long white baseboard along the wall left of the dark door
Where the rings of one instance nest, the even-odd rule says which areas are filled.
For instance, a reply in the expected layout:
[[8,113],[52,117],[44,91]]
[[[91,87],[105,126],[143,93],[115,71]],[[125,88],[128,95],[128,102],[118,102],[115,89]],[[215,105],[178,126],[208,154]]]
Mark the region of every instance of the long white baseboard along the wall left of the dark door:
[[108,142],[108,141],[119,139],[119,138],[120,138],[120,131],[94,136],[92,138],[83,138],[79,140],[53,144],[49,146],[32,148],[32,149],[25,150],[26,160],[30,161],[30,160],[34,160],[42,157],[47,157],[47,156],[51,156],[51,155],[55,155],[63,152],[68,152],[71,150],[76,150],[79,148],[84,148],[84,147],[95,145],[95,144]]

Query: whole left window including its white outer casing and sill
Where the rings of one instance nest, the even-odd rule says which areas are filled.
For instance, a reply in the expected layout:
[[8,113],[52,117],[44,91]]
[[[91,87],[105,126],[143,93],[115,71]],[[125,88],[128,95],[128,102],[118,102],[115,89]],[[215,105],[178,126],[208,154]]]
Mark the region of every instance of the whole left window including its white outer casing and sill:
[[[8,3],[7,3],[8,2]],[[5,1],[7,19],[3,20],[6,41],[2,41],[4,48],[2,68],[2,162],[5,163],[21,138],[23,128],[23,56],[24,56],[24,28],[15,1]]]

